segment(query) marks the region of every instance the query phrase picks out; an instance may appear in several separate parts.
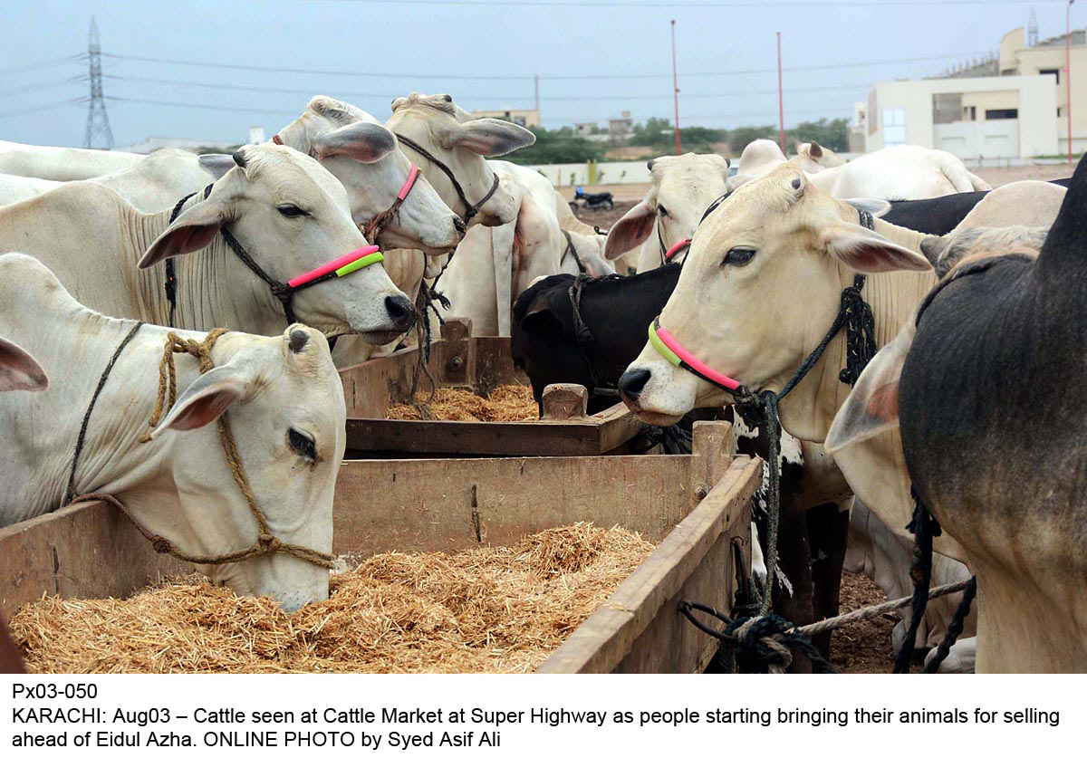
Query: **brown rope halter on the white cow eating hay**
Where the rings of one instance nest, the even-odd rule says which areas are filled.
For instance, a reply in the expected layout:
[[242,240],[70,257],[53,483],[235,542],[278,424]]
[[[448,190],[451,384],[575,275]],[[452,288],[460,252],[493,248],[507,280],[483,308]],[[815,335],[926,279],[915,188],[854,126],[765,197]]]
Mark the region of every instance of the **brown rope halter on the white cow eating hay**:
[[[173,407],[177,400],[177,367],[175,365],[174,356],[177,353],[185,353],[193,356],[200,362],[200,372],[207,374],[215,367],[215,363],[211,357],[212,348],[215,346],[215,342],[218,338],[226,332],[226,329],[214,329],[208,332],[208,336],[199,342],[197,340],[185,339],[173,331],[166,334],[166,343],[162,351],[162,359],[159,362],[159,393],[155,397],[154,410],[151,413],[151,419],[149,422],[152,428],[159,425],[163,415]],[[133,330],[133,333],[135,333],[135,329]],[[129,334],[127,339],[132,339],[132,336],[133,334]],[[122,348],[123,346],[124,345],[122,345]],[[120,350],[121,349],[117,351],[118,353]],[[112,367],[113,362],[110,363],[107,370],[102,374],[101,381],[99,382],[100,386],[105,383],[105,379],[109,377],[109,372]],[[321,551],[315,551],[312,547],[305,547],[304,545],[283,542],[279,538],[272,533],[267,518],[264,516],[264,511],[261,510],[260,505],[257,503],[257,495],[253,494],[252,487],[249,484],[249,478],[246,476],[245,467],[241,464],[241,456],[238,454],[238,445],[235,442],[234,433],[230,431],[230,422],[225,413],[218,417],[217,424],[218,439],[223,445],[223,455],[226,457],[226,464],[230,469],[230,473],[234,476],[234,481],[238,485],[238,490],[241,491],[241,495],[246,498],[246,503],[249,505],[249,511],[253,515],[253,520],[257,521],[257,542],[254,542],[251,546],[234,551],[233,553],[224,553],[222,555],[195,555],[192,553],[186,553],[161,534],[155,534],[154,532],[148,530],[139,522],[128,506],[113,495],[102,492],[93,492],[74,496],[68,502],[83,503],[91,500],[100,500],[105,503],[110,503],[116,507],[117,510],[128,517],[128,520],[132,521],[139,533],[151,543],[151,546],[155,549],[155,552],[166,553],[174,556],[178,560],[184,560],[186,563],[218,566],[223,564],[237,564],[262,555],[286,553],[287,555],[292,555],[296,558],[308,560],[311,564],[316,564],[317,566],[323,566],[325,568],[332,568],[333,556],[330,554],[322,553]],[[150,432],[140,438],[140,442],[149,442],[150,440]]]

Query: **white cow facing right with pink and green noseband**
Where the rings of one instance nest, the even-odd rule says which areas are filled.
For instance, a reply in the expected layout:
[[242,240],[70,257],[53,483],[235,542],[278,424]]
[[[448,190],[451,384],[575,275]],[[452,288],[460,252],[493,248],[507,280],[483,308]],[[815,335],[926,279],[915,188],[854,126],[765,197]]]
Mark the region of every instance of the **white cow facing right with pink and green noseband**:
[[[268,144],[242,148],[236,160],[209,198],[190,199],[173,224],[170,211],[139,213],[88,182],[0,209],[0,251],[34,255],[89,307],[153,324],[170,323],[164,267],[155,264],[179,256],[178,327],[279,333],[283,303],[220,230],[228,228],[280,283],[366,240],[351,220],[343,186],[313,159]],[[387,342],[413,319],[411,303],[379,265],[298,291],[292,305],[326,337],[358,332]]]

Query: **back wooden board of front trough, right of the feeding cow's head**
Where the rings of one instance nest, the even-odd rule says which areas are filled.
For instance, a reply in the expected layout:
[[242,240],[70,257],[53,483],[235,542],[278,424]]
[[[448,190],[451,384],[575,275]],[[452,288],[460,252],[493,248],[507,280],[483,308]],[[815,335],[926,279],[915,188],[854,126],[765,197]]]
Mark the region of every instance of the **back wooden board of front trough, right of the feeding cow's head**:
[[351,460],[336,484],[333,549],[503,545],[577,521],[661,540],[691,508],[690,456]]

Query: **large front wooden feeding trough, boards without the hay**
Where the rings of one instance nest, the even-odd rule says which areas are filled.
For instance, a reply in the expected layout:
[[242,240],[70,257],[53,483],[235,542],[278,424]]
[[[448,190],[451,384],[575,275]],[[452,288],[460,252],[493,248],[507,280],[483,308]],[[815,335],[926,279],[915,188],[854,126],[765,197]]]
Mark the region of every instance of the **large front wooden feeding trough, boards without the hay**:
[[[691,455],[349,460],[333,549],[358,561],[391,549],[508,545],[577,521],[637,530],[657,549],[538,670],[701,671],[716,641],[677,604],[732,607],[762,476],[760,460],[732,450],[729,425],[715,421],[696,425]],[[43,594],[123,597],[189,570],[107,504],[83,503],[0,529],[0,612]]]

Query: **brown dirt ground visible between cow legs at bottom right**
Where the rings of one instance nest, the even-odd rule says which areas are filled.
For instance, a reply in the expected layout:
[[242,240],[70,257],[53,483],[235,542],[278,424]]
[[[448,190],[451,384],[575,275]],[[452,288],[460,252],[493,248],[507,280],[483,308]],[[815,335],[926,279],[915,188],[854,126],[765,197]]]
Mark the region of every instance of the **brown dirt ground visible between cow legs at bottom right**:
[[[887,596],[863,573],[841,574],[841,608],[845,614],[885,603]],[[890,673],[890,631],[898,616],[884,614],[837,630],[832,640],[830,662],[844,673]]]

